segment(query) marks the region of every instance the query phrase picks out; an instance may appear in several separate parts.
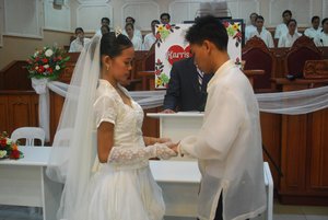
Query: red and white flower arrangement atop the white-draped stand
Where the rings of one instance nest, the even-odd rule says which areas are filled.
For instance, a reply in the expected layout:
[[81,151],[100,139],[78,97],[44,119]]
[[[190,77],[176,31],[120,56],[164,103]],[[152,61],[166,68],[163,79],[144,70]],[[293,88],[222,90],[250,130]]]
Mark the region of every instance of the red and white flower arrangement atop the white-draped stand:
[[30,78],[50,80],[58,79],[65,68],[65,63],[70,57],[65,57],[65,50],[58,47],[44,47],[36,50],[26,61],[25,68],[30,72]]

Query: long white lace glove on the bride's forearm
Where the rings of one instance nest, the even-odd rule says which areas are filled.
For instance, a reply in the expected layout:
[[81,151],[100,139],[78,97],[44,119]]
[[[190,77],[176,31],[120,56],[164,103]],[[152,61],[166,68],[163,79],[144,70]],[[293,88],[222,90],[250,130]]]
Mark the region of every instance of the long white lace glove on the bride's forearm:
[[167,160],[176,153],[164,143],[155,143],[145,148],[118,148],[113,147],[108,157],[108,163],[133,164],[151,158]]

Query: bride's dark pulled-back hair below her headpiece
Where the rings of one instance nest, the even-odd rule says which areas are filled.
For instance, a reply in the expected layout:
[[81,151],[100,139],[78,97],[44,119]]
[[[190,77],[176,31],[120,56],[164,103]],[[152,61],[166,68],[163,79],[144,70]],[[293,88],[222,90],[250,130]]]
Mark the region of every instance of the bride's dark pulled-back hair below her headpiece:
[[107,55],[112,58],[117,57],[122,50],[133,47],[131,40],[122,34],[115,36],[114,32],[103,35],[101,40],[101,56]]

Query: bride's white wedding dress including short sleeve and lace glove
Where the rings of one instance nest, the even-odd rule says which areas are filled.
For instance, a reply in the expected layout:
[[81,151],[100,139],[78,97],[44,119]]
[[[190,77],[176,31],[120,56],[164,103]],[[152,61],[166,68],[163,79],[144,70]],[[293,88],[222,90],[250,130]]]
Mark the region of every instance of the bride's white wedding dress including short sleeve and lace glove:
[[[128,92],[119,86],[128,96]],[[108,162],[96,161],[90,184],[89,220],[162,220],[162,190],[149,167],[149,158],[168,158],[163,144],[145,147],[141,126],[143,111],[132,101],[125,104],[106,80],[99,80],[94,103],[95,120],[115,125]],[[96,159],[97,160],[97,159]]]

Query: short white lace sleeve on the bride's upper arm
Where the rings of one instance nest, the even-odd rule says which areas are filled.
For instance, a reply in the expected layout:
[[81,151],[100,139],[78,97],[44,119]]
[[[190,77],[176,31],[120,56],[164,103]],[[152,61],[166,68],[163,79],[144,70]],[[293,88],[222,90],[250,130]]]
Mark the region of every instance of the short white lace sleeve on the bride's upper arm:
[[115,125],[118,109],[114,96],[109,96],[109,95],[99,96],[95,101],[93,107],[94,107],[94,115],[95,115],[95,121],[97,127],[99,127],[99,125],[103,121],[112,123]]

